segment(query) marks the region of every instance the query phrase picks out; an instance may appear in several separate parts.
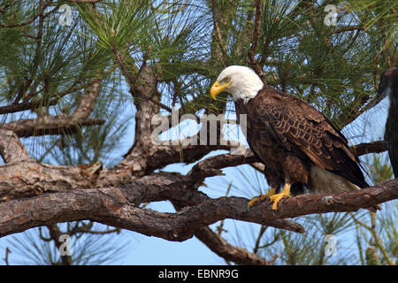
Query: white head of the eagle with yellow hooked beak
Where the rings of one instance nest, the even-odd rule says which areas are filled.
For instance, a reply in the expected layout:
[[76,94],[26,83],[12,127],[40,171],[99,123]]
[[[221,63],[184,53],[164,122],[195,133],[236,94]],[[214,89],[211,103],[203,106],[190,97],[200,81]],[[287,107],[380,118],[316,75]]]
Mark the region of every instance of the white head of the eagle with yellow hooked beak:
[[219,93],[226,91],[233,96],[234,101],[243,99],[247,103],[250,98],[257,95],[263,86],[263,81],[249,67],[230,65],[218,75],[210,89],[210,95],[216,99]]

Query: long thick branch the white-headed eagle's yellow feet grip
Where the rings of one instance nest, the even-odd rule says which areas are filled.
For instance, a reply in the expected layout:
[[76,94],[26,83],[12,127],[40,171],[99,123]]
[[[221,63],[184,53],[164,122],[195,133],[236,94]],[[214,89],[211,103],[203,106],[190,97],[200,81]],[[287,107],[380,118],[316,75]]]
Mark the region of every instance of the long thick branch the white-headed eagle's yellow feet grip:
[[[169,189],[164,190],[165,187]],[[398,198],[398,180],[391,180],[356,193],[299,195],[287,198],[279,203],[277,211],[272,210],[269,202],[260,203],[249,210],[248,200],[241,197],[208,199],[175,213],[138,207],[142,202],[164,199],[171,191],[173,194],[177,193],[180,187],[165,186],[163,181],[163,186],[151,190],[139,182],[134,182],[121,188],[76,190],[10,201],[0,204],[0,236],[22,232],[34,226],[90,219],[169,241],[184,241],[194,236],[203,226],[209,226],[225,218],[266,225],[267,222],[280,218],[355,211]],[[196,191],[191,191],[193,192]],[[185,197],[188,197],[188,191],[185,193]]]

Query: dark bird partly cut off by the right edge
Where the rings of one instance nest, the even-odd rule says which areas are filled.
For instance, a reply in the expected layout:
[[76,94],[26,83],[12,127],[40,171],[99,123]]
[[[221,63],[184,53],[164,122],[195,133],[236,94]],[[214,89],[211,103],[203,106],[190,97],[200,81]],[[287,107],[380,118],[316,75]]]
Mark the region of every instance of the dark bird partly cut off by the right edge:
[[381,73],[378,94],[388,95],[390,99],[384,140],[387,142],[394,176],[398,178],[398,67],[388,68]]

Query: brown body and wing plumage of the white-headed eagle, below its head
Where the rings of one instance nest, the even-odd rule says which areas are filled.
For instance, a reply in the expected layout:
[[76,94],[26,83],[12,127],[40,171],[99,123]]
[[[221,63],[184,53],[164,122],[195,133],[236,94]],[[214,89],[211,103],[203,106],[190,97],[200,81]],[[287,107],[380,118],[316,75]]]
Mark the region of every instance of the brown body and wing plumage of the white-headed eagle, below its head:
[[368,187],[347,139],[310,103],[265,86],[248,103],[236,101],[235,107],[238,117],[248,115],[250,148],[276,180],[310,187],[309,170],[315,164],[358,187]]

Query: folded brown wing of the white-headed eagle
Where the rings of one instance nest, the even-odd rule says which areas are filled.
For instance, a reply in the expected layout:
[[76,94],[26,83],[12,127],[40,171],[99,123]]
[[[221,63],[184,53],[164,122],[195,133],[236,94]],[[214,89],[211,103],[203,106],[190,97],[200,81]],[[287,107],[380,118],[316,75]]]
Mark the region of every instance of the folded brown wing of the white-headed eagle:
[[368,187],[347,139],[310,103],[265,87],[252,107],[256,117],[264,121],[267,131],[285,149],[358,187]]

